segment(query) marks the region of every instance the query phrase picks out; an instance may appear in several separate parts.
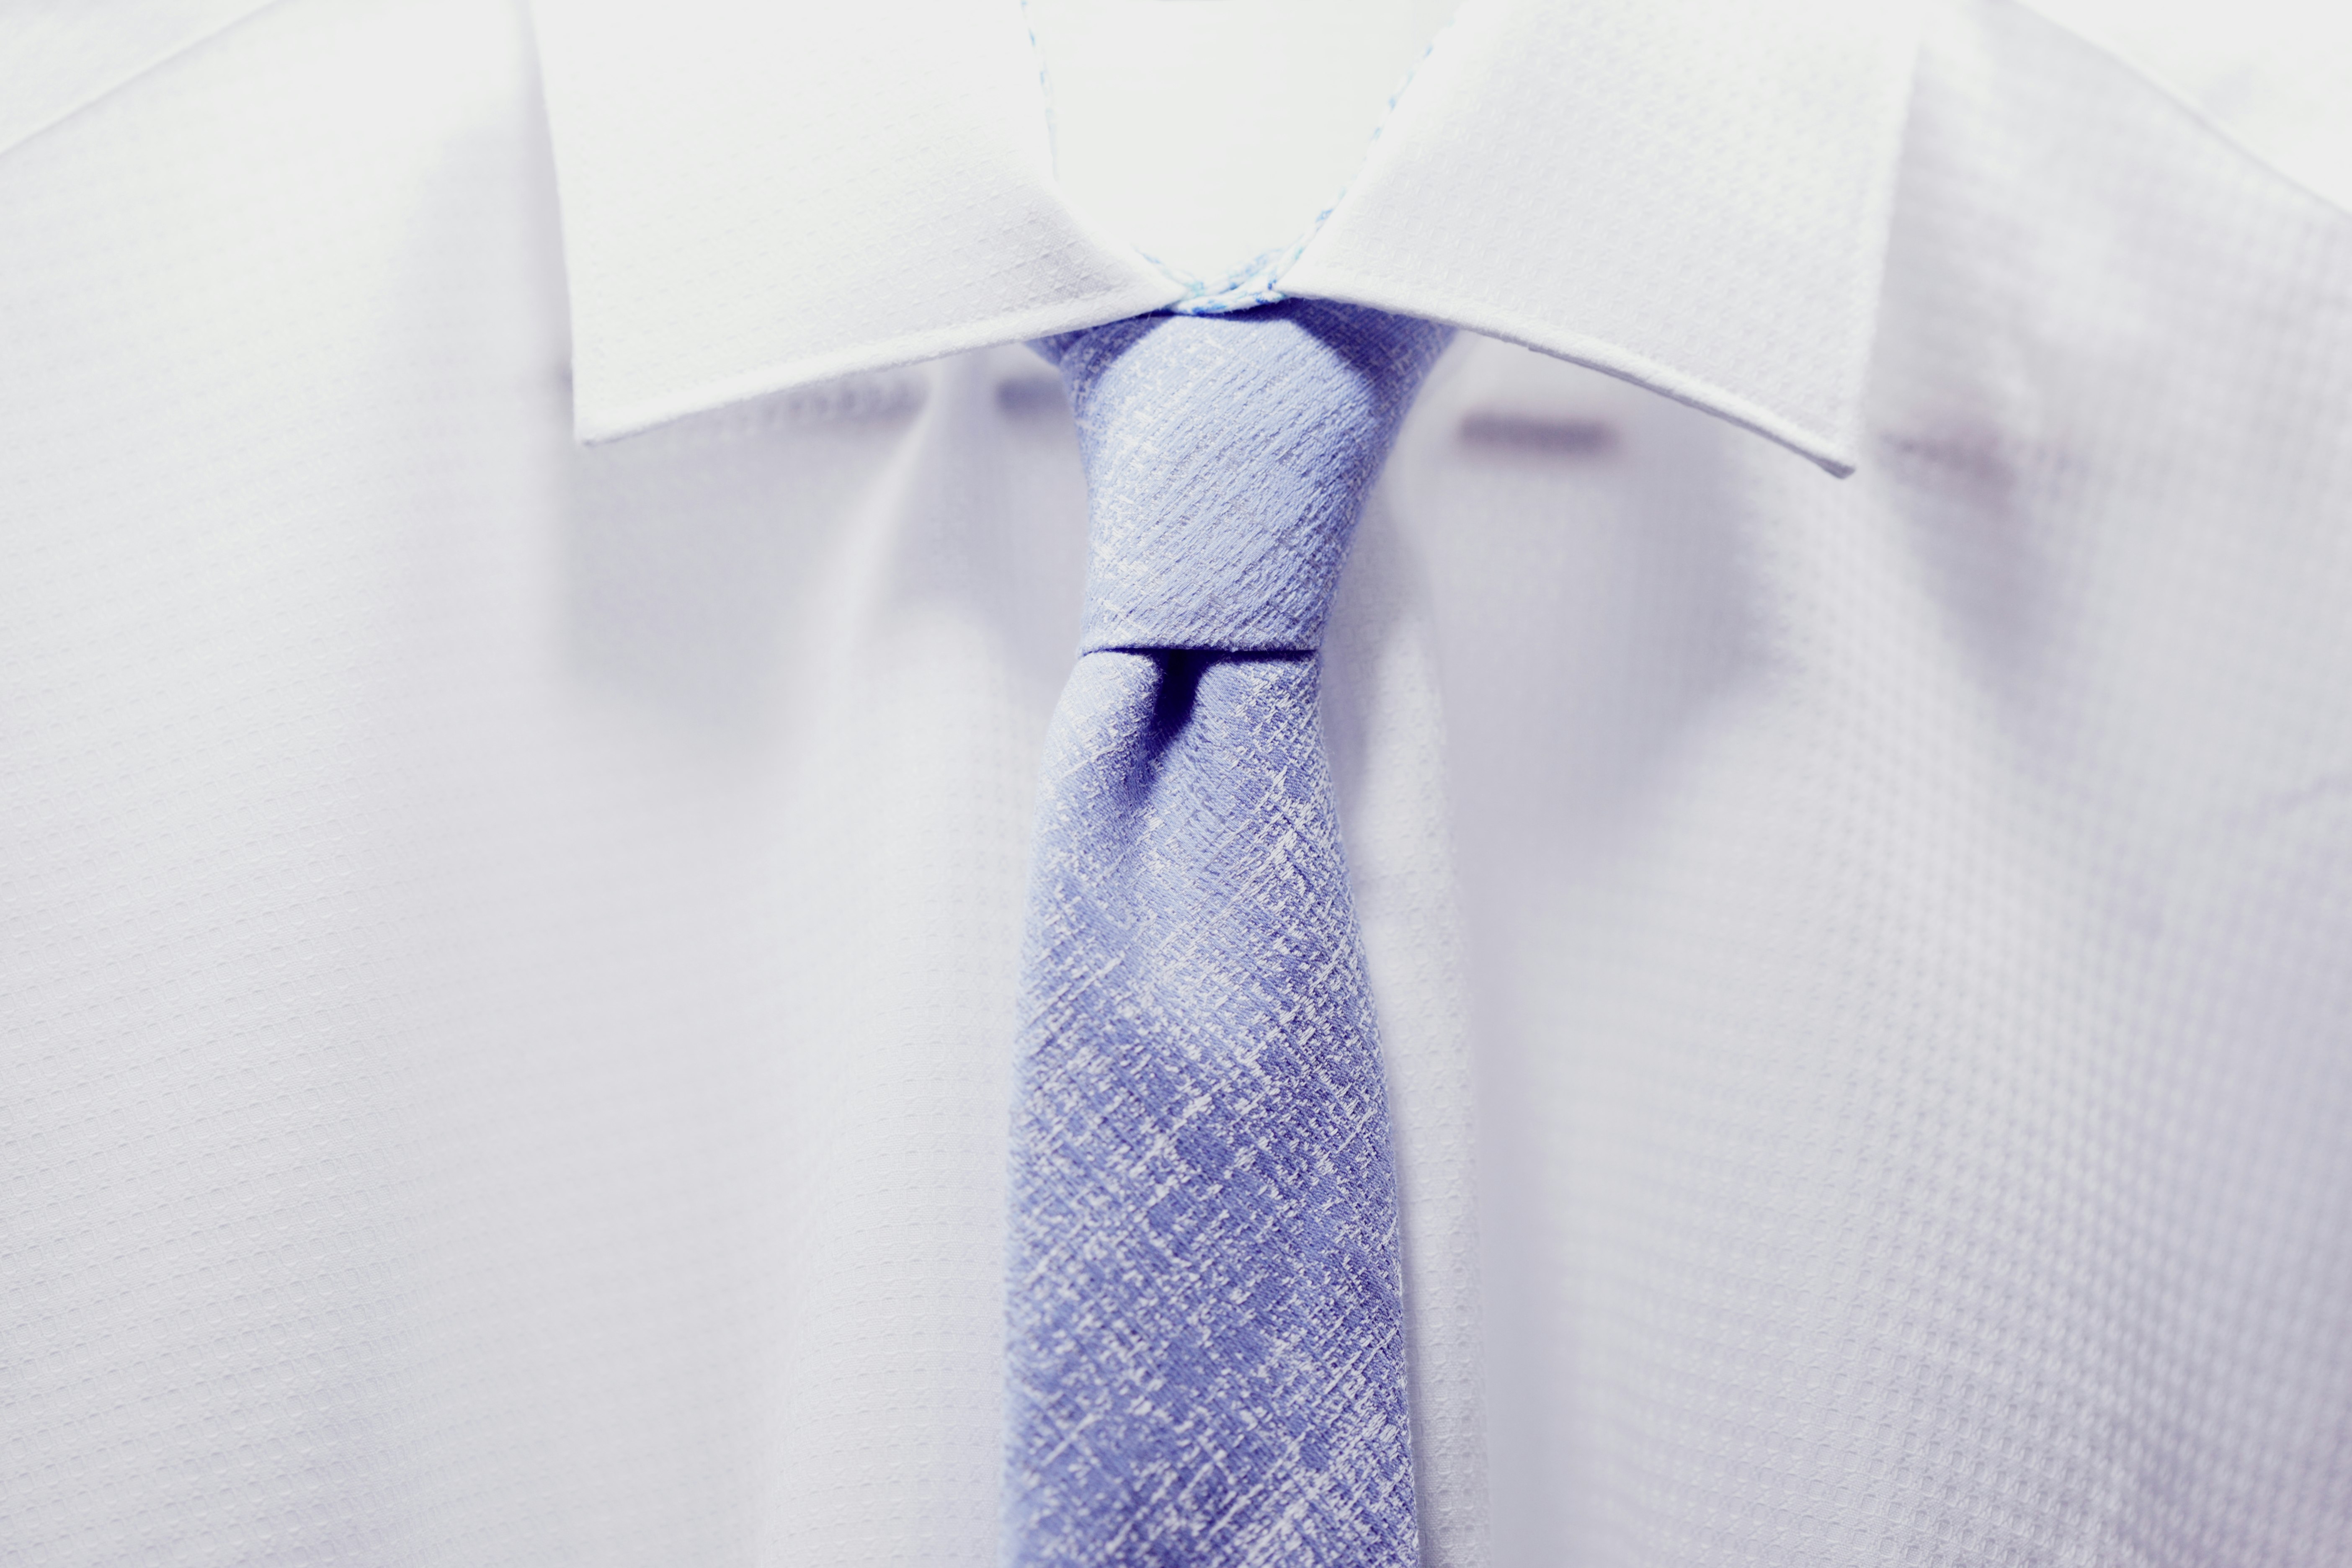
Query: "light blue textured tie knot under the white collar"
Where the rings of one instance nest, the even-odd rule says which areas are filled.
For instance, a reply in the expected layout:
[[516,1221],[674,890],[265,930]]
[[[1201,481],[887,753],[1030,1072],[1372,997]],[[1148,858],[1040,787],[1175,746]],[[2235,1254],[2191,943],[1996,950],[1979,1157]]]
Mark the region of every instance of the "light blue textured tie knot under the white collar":
[[1329,301],[1047,339],[1091,505],[1082,651],[1310,651],[1449,327]]

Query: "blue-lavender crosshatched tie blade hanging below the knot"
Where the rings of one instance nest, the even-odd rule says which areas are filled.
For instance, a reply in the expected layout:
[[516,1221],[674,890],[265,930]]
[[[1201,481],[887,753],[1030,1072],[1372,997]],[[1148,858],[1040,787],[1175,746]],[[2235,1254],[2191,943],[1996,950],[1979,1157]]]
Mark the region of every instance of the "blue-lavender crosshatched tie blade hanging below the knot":
[[1388,1107],[1315,661],[1082,658],[1033,910],[1009,1559],[1416,1561]]

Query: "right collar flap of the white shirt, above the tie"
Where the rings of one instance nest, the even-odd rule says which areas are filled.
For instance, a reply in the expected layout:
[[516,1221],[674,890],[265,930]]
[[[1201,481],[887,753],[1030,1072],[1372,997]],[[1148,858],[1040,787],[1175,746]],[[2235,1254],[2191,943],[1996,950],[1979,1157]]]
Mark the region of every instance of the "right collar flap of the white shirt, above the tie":
[[1282,273],[1853,468],[1912,0],[1470,0]]

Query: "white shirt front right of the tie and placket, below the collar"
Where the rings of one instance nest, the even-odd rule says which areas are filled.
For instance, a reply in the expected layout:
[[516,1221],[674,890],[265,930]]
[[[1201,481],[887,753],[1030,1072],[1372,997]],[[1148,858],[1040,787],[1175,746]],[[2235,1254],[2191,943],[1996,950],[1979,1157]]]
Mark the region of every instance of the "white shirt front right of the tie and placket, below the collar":
[[1853,480],[1428,393],[1498,1561],[2352,1554],[2347,355],[2343,214],[1969,5]]

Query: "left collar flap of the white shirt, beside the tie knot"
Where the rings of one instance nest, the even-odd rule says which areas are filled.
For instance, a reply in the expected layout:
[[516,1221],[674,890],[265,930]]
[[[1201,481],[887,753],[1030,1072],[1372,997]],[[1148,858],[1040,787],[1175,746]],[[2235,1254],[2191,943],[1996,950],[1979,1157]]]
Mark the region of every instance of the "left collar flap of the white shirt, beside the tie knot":
[[586,440],[1183,292],[1054,188],[1018,0],[567,0],[539,42]]

